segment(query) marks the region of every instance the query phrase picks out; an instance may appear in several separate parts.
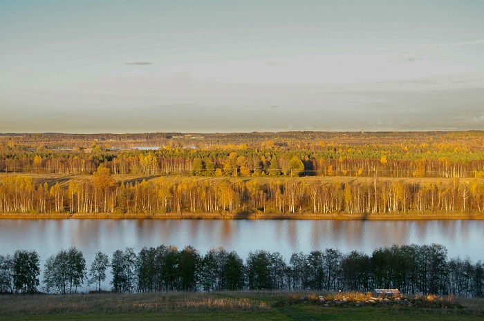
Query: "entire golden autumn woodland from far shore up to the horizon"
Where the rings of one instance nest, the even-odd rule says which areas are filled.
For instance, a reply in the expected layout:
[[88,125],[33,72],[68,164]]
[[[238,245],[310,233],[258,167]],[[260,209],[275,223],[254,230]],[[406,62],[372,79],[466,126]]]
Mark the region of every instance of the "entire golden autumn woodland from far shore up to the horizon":
[[1,135],[0,171],[0,213],[484,212],[481,131]]

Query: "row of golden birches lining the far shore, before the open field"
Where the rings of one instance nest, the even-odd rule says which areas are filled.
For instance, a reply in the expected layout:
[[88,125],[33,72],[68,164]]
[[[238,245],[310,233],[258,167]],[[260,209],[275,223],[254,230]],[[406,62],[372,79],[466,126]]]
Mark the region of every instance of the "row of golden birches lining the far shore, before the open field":
[[100,165],[68,183],[0,181],[0,213],[483,213],[481,179],[155,177],[116,182]]

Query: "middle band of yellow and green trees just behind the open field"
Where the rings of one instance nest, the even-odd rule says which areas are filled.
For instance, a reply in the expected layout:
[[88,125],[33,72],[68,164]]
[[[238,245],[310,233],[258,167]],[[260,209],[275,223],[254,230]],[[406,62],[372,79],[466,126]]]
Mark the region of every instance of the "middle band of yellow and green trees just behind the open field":
[[[234,149],[236,150],[234,151]],[[97,166],[115,174],[204,176],[351,176],[351,177],[483,177],[484,153],[389,153],[350,146],[316,150],[105,151],[89,153],[24,152],[0,154],[3,173],[91,174]],[[240,149],[239,149],[240,148]],[[279,148],[278,148],[279,149]]]

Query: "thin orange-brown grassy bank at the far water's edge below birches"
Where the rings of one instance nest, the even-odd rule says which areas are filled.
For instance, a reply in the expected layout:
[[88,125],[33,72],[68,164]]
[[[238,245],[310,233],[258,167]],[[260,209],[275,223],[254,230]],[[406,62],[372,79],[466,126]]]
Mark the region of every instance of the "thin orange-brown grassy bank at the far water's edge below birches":
[[484,220],[484,213],[0,213],[0,220]]

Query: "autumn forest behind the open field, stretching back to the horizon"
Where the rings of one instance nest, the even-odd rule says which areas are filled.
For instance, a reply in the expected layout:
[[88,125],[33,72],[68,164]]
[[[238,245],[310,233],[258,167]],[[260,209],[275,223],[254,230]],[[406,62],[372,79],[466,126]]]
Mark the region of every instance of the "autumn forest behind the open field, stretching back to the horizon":
[[[113,174],[484,176],[483,132],[86,135],[87,144],[64,136],[3,137],[0,171],[91,174],[104,164]],[[129,149],[150,143],[155,149]]]

